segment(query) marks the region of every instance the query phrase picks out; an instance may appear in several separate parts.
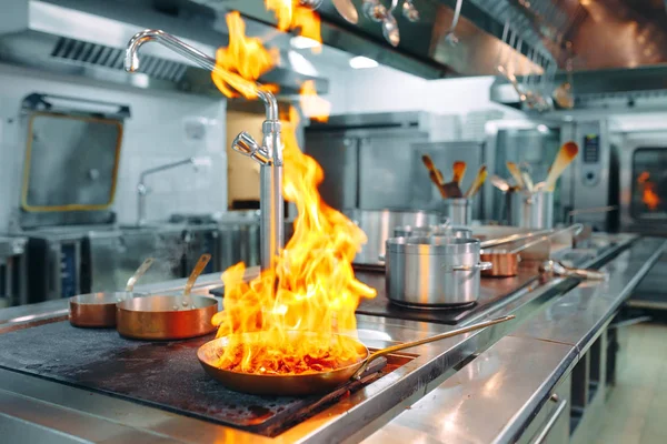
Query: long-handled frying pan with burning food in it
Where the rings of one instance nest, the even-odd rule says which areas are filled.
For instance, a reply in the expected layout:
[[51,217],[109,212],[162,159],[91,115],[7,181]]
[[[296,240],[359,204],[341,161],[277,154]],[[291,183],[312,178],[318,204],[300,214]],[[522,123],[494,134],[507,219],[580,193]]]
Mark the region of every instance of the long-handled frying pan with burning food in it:
[[[452,330],[447,333],[430,336],[425,340],[406,342],[404,344],[381,349],[372,353],[366,347],[366,345],[364,345],[361,342],[354,337],[345,335],[334,335],[336,341],[348,342],[350,346],[354,346],[357,350],[359,356],[362,357],[354,364],[345,365],[328,372],[305,373],[297,375],[276,375],[242,373],[218,369],[216,366],[216,362],[221,356],[221,351],[225,349],[225,346],[229,344],[229,336],[223,336],[207,342],[197,351],[197,357],[199,359],[199,362],[203,370],[211,377],[219,381],[220,383],[222,383],[222,385],[227,386],[230,390],[257,395],[303,396],[316,393],[331,392],[332,390],[337,389],[340,385],[344,385],[350,380],[360,379],[368,364],[377,360],[378,357],[386,356],[388,354],[401,350],[411,349],[418,345],[428,344],[431,342],[457,336],[459,334],[472,332],[475,330],[485,329],[490,325],[512,320],[514,317],[514,315],[508,315],[490,321],[480,322],[461,329]],[[302,340],[305,335],[312,337],[318,336],[318,333],[292,333],[295,336],[298,336],[299,340]],[[241,340],[245,342],[253,343],[257,342],[262,334],[266,334],[266,332],[241,333]]]

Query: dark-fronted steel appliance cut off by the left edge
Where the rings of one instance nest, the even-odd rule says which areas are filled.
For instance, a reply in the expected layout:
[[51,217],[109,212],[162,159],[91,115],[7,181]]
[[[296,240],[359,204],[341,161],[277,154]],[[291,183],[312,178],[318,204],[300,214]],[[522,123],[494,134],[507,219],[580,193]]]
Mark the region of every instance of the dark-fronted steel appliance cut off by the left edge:
[[27,242],[23,236],[0,235],[0,306],[28,303]]

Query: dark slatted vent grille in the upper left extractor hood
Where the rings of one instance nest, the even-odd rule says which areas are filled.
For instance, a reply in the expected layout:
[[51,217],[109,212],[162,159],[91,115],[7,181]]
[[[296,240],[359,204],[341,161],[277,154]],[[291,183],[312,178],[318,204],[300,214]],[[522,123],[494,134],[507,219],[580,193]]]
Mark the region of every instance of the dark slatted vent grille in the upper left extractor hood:
[[[51,51],[51,57],[122,71],[125,50],[60,37],[56,42],[53,51]],[[155,56],[142,56],[141,69],[139,71],[153,79],[178,83],[187,70],[188,65],[185,63]]]

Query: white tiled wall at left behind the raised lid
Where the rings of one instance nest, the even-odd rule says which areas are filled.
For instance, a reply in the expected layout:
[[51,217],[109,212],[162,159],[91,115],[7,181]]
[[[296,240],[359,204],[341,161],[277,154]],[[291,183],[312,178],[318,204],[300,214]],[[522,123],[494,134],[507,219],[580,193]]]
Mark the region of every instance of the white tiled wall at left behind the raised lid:
[[[130,105],[115,203],[120,222],[136,219],[135,190],[142,170],[193,155],[210,157],[210,167],[197,172],[182,167],[148,179],[152,190],[147,199],[149,219],[166,219],[177,211],[227,209],[223,99],[123,88],[0,64],[0,232],[7,230],[19,205],[24,147],[17,115],[21,100],[32,92]],[[187,122],[203,125],[203,138],[189,138]]]

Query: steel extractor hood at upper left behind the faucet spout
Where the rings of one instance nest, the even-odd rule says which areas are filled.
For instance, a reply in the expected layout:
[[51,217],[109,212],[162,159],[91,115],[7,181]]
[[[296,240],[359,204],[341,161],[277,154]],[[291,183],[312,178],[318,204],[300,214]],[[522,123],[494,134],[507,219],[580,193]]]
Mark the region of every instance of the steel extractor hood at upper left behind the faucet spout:
[[[126,46],[143,28],[165,29],[211,57],[219,46],[228,44],[227,33],[203,21],[203,16],[183,19],[168,12],[140,0],[2,0],[0,62],[138,88],[220,97],[209,72],[158,44],[142,48],[139,74],[125,72]],[[303,81],[313,80],[319,92],[327,92],[326,79],[299,72],[287,54],[280,59],[280,65],[260,82],[278,84],[282,94],[293,94]]]

